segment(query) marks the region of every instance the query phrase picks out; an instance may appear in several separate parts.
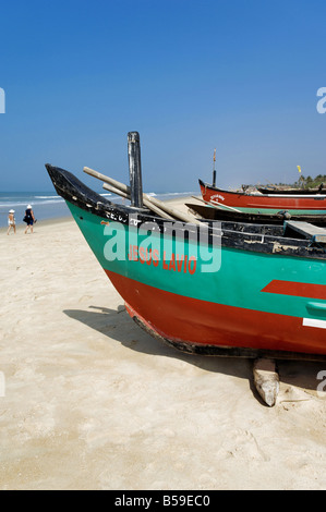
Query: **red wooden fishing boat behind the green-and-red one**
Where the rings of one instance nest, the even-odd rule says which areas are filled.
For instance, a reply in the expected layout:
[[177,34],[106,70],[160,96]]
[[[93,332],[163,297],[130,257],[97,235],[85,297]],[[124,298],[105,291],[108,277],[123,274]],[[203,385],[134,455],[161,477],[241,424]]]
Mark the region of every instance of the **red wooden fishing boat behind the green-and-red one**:
[[200,180],[203,199],[217,204],[226,209],[236,208],[247,214],[277,214],[288,210],[290,215],[325,215],[326,193],[323,194],[292,194],[271,193],[262,194],[247,192],[230,192],[209,185]]

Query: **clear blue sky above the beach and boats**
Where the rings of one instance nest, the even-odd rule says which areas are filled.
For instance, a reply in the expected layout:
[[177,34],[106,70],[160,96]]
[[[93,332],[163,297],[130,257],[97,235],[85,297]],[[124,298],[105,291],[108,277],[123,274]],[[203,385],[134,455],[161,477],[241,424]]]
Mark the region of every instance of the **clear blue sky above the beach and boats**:
[[24,0],[1,4],[0,191],[52,190],[45,162],[144,190],[326,173],[326,2]]

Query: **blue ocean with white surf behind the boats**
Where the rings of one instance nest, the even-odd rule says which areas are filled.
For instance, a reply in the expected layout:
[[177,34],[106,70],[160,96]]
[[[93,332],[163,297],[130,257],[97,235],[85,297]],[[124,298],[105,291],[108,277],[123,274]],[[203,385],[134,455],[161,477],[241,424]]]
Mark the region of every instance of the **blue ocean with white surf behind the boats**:
[[[155,193],[149,192],[148,195],[155,196],[160,200],[168,200],[178,197],[186,197],[196,195],[195,192],[166,192]],[[116,194],[100,194],[101,196],[114,203],[122,203],[120,196]],[[27,205],[33,207],[34,216],[38,222],[48,219],[59,219],[62,217],[70,217],[71,214],[65,202],[62,197],[58,196],[56,192],[0,192],[0,228],[8,225],[8,214],[10,209],[15,210],[16,224],[24,224],[23,217]]]

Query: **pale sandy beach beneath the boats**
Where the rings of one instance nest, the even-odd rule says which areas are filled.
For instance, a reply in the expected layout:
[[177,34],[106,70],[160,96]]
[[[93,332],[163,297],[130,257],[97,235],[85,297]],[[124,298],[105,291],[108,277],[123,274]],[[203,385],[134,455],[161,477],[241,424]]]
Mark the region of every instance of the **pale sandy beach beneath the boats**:
[[137,327],[72,219],[0,234],[1,490],[326,488],[326,363],[268,407],[251,361]]

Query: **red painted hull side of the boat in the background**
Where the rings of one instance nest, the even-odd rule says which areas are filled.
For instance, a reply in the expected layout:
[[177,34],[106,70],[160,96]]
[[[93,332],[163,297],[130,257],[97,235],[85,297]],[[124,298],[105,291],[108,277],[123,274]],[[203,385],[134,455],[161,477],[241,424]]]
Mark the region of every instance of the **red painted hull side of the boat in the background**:
[[293,196],[293,195],[254,195],[228,192],[201,184],[203,199],[207,203],[219,203],[233,208],[275,209],[275,210],[325,210],[326,195]]

